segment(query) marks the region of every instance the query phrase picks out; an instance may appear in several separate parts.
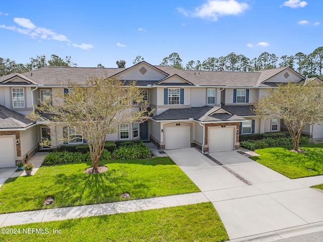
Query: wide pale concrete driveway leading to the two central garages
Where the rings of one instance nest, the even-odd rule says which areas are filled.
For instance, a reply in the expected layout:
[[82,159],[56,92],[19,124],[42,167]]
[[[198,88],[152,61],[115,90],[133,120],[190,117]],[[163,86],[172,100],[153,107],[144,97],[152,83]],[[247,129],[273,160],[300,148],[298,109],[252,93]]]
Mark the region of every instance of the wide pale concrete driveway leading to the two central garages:
[[194,148],[166,153],[213,203],[230,239],[272,231],[280,239],[278,230],[323,221],[323,193],[309,188],[314,179],[291,180],[235,151],[209,154],[227,170]]

